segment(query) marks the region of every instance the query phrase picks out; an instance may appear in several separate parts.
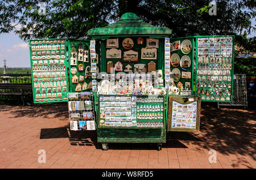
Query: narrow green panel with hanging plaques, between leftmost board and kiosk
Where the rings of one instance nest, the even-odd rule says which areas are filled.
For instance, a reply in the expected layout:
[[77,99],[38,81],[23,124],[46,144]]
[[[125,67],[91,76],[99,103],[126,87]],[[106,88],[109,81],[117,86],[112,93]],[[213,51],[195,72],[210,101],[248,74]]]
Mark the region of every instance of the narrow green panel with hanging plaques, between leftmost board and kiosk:
[[90,58],[90,40],[69,40],[68,49],[70,92],[92,91],[100,70],[100,45],[96,42],[96,58]]

